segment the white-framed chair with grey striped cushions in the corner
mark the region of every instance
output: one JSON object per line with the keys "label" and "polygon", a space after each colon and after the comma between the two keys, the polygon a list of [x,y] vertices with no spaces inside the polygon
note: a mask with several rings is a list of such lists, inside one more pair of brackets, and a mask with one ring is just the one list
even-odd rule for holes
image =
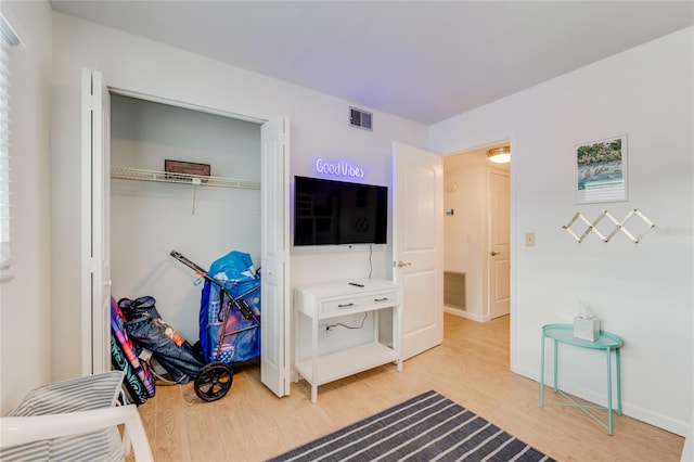
{"label": "white-framed chair with grey striped cushions in the corner", "polygon": [[[116,406],[123,371],[55,382],[31,390],[0,419],[2,461],[151,461],[134,405]],[[124,425],[123,432],[118,425]]]}

